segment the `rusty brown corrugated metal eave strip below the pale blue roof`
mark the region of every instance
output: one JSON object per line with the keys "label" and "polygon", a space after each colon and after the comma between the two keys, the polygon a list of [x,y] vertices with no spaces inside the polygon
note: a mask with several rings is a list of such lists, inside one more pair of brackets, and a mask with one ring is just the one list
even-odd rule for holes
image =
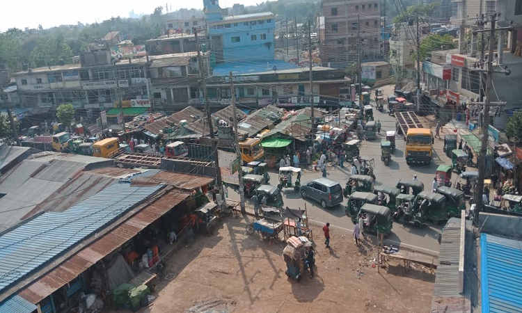
{"label": "rusty brown corrugated metal eave strip below the pale blue roof", "polygon": [[111,230],[111,232],[101,239],[91,243],[63,264],[36,282],[33,282],[29,287],[20,292],[20,296],[31,303],[39,303],[63,285],[74,280],[74,278],[100,261],[100,259],[120,248],[123,243],[136,236],[138,232],[166,214],[188,196],[189,193],[184,193],[176,189],[162,195],[161,198],[149,204],[135,216],[125,221],[125,223]]}

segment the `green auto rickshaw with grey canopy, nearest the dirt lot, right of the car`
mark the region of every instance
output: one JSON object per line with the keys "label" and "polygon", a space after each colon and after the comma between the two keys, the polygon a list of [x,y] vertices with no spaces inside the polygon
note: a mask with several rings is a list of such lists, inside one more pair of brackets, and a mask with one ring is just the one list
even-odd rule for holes
{"label": "green auto rickshaw with grey canopy, nearest the dirt lot, right of the car", "polygon": [[[365,233],[371,232],[373,234],[383,234],[388,236],[393,227],[392,214],[388,207],[382,205],[365,203],[359,213],[370,218],[370,223],[364,223],[363,231]],[[351,216],[351,221],[357,223],[358,216]]]}

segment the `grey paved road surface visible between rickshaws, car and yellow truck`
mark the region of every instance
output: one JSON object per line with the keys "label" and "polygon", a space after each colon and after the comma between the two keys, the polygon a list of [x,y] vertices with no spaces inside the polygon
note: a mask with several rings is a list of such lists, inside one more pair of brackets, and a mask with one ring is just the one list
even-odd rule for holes
{"label": "grey paved road surface visible between rickshaws, car and yellow truck", "polygon": [[[380,120],[382,129],[381,136],[386,137],[386,130],[395,130],[395,118],[389,116],[386,109],[383,112],[374,111],[375,120]],[[441,134],[442,136],[443,134]],[[425,184],[425,190],[429,190],[432,186],[435,170],[438,164],[449,163],[448,158],[443,154],[443,143],[442,140],[436,139],[434,145],[434,161],[428,166],[408,166],[404,159],[404,137],[397,136],[396,145],[397,149],[392,156],[392,161],[385,166],[380,159],[380,142],[381,138],[377,138],[374,141],[365,141],[361,148],[361,157],[363,159],[373,158],[375,159],[376,168],[374,170],[377,176],[376,185],[395,185],[399,179],[413,179],[413,175],[416,174],[418,179]],[[277,182],[277,174],[270,173],[271,184],[274,185]],[[339,182],[344,188],[349,176],[349,168],[330,168],[328,170],[328,178]],[[303,172],[301,182],[305,183],[317,177],[321,177],[320,172],[313,172],[306,170]],[[453,181],[454,179],[452,179]],[[229,192],[229,197],[232,200],[239,200],[239,195],[233,191]],[[293,189],[287,188],[283,190],[283,199],[285,206],[291,208],[308,209],[308,216],[310,220],[315,220],[320,223],[329,222],[335,227],[341,227],[349,230],[353,230],[353,224],[351,220],[345,215],[345,204],[346,200],[336,207],[329,209],[322,209],[319,203],[313,200],[303,200],[299,193],[295,193]],[[388,241],[395,244],[402,244],[406,248],[417,247],[418,250],[427,250],[427,252],[438,252],[438,241],[437,236],[443,225],[424,225],[420,228],[416,228],[413,225],[402,225],[401,223],[393,224],[393,234],[388,236]],[[335,243],[332,243],[335,245]]]}

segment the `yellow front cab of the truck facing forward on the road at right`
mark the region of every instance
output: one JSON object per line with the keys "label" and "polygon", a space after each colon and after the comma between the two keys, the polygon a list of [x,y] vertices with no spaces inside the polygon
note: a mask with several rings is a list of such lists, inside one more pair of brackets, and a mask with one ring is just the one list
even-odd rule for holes
{"label": "yellow front cab of the truck facing forward on the road at right", "polygon": [[434,137],[429,128],[410,128],[406,133],[406,164],[431,163]]}

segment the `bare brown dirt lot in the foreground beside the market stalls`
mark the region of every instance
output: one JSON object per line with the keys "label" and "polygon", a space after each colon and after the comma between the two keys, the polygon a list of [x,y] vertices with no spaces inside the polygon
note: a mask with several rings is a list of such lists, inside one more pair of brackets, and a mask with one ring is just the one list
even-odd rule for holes
{"label": "bare brown dirt lot in the foreground beside the market stalls", "polygon": [[250,219],[224,218],[213,236],[174,252],[172,279],[159,281],[157,298],[140,312],[429,312],[435,275],[418,264],[405,273],[399,262],[377,273],[375,237],[357,247],[351,232],[331,228],[328,249],[322,225],[312,225],[318,273],[296,282],[285,275],[285,243],[248,236]]}

